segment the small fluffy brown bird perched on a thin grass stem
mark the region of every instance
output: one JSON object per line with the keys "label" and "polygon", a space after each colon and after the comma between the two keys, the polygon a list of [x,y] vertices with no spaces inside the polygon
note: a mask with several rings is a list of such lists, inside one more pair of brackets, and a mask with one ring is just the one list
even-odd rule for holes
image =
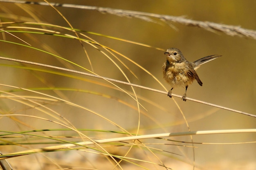
{"label": "small fluffy brown bird perched on a thin grass stem", "polygon": [[[185,86],[187,90],[189,84],[192,84],[194,79],[196,79],[198,84],[202,86],[203,83],[199,79],[195,70],[198,69],[202,64],[222,56],[209,55],[191,63],[186,60],[179,49],[171,48],[168,49],[164,54],[167,57],[166,62],[164,62],[162,66],[162,71],[164,74],[164,79],[168,84],[171,85],[171,90],[167,94],[169,97],[172,97],[173,88]],[[183,101],[186,101],[186,91],[182,99]]]}

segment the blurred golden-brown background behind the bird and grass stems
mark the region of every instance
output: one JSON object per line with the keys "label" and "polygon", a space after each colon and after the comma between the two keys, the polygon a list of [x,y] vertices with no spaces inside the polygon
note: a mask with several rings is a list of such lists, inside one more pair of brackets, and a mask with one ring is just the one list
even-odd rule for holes
{"label": "blurred golden-brown background behind the bird and grass stems", "polygon": [[[182,16],[191,20],[241,26],[244,29],[256,29],[256,22],[254,22],[256,17],[256,1],[55,0],[49,2],[81,4],[96,7],[109,7],[113,9]],[[194,84],[190,85],[188,88],[187,97],[240,110],[246,113],[255,114],[256,40],[252,38],[230,36],[221,32],[213,33],[198,27],[185,26],[173,22],[166,23],[155,18],[153,18],[155,22],[147,22],[138,18],[127,18],[108,13],[100,13],[94,10],[65,7],[56,8],[63,14],[63,16],[65,16],[65,18],[67,18],[75,29],[92,31],[94,33],[148,44],[153,47],[164,49],[163,51],[156,48],[149,48],[146,46],[140,46],[138,44],[132,44],[125,41],[114,40],[108,37],[84,32],[85,35],[97,41],[99,44],[107,46],[108,48],[125,55],[130,60],[133,60],[145,68],[157,79],[159,79],[167,90],[169,90],[170,87],[166,82],[164,82],[161,70],[162,64],[166,60],[166,56],[164,55],[166,49],[170,47],[180,49],[184,57],[191,62],[207,55],[222,55],[222,57],[202,65],[197,70],[197,73],[203,82],[203,86],[201,87],[194,82]],[[59,15],[52,7],[6,2],[0,2],[0,22],[43,22],[69,27],[63,17],[61,17],[61,15]],[[7,25],[2,25],[2,27],[4,26]],[[8,26],[21,25],[10,24]],[[35,27],[41,28],[40,26]],[[173,29],[173,27],[175,27],[175,29]],[[50,29],[60,31],[61,33],[75,35],[71,31],[66,31],[64,29]],[[4,28],[4,30],[11,29]],[[90,66],[88,57],[86,56],[85,51],[78,40],[43,34],[13,34],[22,40],[25,40],[33,47],[59,55],[67,60],[80,64],[90,71],[93,69],[93,72],[98,75],[121,81],[128,81],[121,73],[119,68],[110,59],[108,59],[106,55],[101,53],[98,49],[95,49],[90,44],[83,43],[83,46],[90,57],[92,67]],[[2,33],[2,35],[0,35],[0,39],[22,44],[22,42],[17,38],[14,38],[6,33]],[[97,47],[100,50],[105,51],[106,54],[110,55],[110,53],[106,52],[106,50],[104,50],[101,46]],[[78,71],[85,71],[82,68],[72,66],[72,64],[60,62],[60,60],[56,59],[56,57],[53,57],[52,55],[7,42],[0,42],[0,55],[3,57],[28,60],[64,68],[72,68]],[[111,56],[112,60],[117,62],[131,83],[165,91],[165,89],[155,79],[153,79],[151,75],[121,55],[117,54],[117,57],[119,60],[124,62],[130,71],[135,73],[137,76],[136,78],[134,75],[132,75],[132,73],[130,73],[130,71],[124,65],[122,65],[115,57]],[[1,60],[0,64],[19,65],[17,63],[4,60]],[[39,66],[26,66],[30,68],[41,68]],[[53,69],[49,70],[54,71]],[[188,131],[182,114],[180,113],[180,110],[173,99],[177,102],[178,106],[186,117],[186,120],[189,122],[189,128],[191,131],[256,128],[256,121],[253,117],[213,108],[211,106],[198,104],[191,101],[183,102],[182,99],[176,97],[170,99],[167,97],[167,95],[140,88],[134,88],[136,94],[138,95],[140,104],[146,108],[145,110],[144,108],[140,107],[139,120],[137,103],[135,100],[122,91],[116,90],[115,86],[112,84],[92,77],[75,74],[71,75],[79,76],[81,79],[2,65],[0,67],[0,84],[20,88],[56,87],[76,89],[76,91],[60,90],[58,92],[49,90],[43,91],[43,89],[40,89],[39,92],[60,97],[78,104],[79,106],[88,108],[89,110],[110,119],[130,133],[137,132],[139,124],[138,122],[140,122],[138,131],[139,135]],[[132,88],[130,86],[117,83],[115,84],[123,88],[125,91],[132,93]],[[1,91],[11,90],[13,90],[13,88],[1,86]],[[184,88],[174,89],[173,94],[183,95],[184,90]],[[36,95],[34,93],[24,91],[14,92],[14,94],[22,96]],[[1,98],[0,109],[2,114],[25,114],[52,119],[50,115],[46,115],[29,105],[8,99],[4,96]],[[120,127],[111,124],[109,121],[106,121],[106,119],[102,119],[101,117],[92,114],[92,112],[88,110],[77,108],[60,101],[52,103],[50,103],[50,101],[48,102],[49,104],[45,104],[49,108],[68,119],[76,128],[121,131]],[[40,119],[29,117],[15,117],[15,119],[11,117],[1,117],[0,119],[0,130],[4,131],[20,132],[31,129],[47,128],[54,129],[63,127],[53,124],[52,122],[45,122]],[[64,136],[65,132],[63,132],[63,134],[56,132],[55,135]],[[97,138],[116,137],[115,134],[95,134],[93,132],[88,134],[86,133],[86,135]],[[120,135],[117,135],[117,137],[119,136]],[[171,139],[191,142],[190,137],[175,137]],[[236,143],[250,142],[255,140],[256,135],[252,133],[193,136],[193,141],[199,143]],[[191,144],[187,145],[191,146]],[[39,146],[41,147],[43,144]],[[31,147],[40,148],[39,146]],[[195,148],[196,169],[253,170],[255,167],[255,143],[235,145],[195,144],[195,146],[198,147]],[[173,159],[173,155],[169,155],[167,157],[162,155],[163,158],[161,160],[166,166],[173,169],[193,168],[192,148],[176,146],[161,147],[169,152],[183,155],[178,157],[178,160]],[[110,149],[110,152],[123,154],[126,149],[127,148],[122,149],[113,147],[112,150]],[[7,154],[20,150],[26,150],[26,148],[21,146],[0,146],[0,150],[4,154]],[[63,154],[65,154],[65,156],[63,156]],[[52,153],[52,155],[49,153],[47,156],[55,158],[59,157],[64,161],[71,159],[68,154],[72,155],[73,151]],[[132,150],[130,154],[134,156],[139,155],[140,152],[138,150]],[[12,158],[9,159],[9,161],[13,167],[17,167],[18,162],[22,161],[23,163],[27,162],[30,165],[34,165],[34,169],[40,169],[38,168],[38,164],[41,164],[41,166],[39,166],[41,169],[47,169],[46,165],[49,165],[50,163],[47,162],[44,164],[44,166],[42,166],[42,163],[37,162],[38,157],[36,159],[35,155],[30,155]],[[71,161],[71,159],[70,161],[76,166],[83,165],[83,163],[85,163],[83,162],[83,159],[79,156],[77,157],[77,159],[73,161]],[[90,157],[92,157],[92,155],[90,155]],[[97,157],[97,155],[94,155],[93,159],[95,159],[97,163],[99,163],[98,161],[106,161],[99,156]],[[33,160],[32,164],[31,160]],[[103,167],[106,166],[106,164],[102,165]],[[130,166],[135,168],[134,165],[127,163],[124,165],[124,169],[129,169]],[[26,168],[27,166],[24,164],[24,169]],[[100,169],[102,166],[97,165],[97,168]],[[153,169],[151,166],[148,166],[148,168]]]}

